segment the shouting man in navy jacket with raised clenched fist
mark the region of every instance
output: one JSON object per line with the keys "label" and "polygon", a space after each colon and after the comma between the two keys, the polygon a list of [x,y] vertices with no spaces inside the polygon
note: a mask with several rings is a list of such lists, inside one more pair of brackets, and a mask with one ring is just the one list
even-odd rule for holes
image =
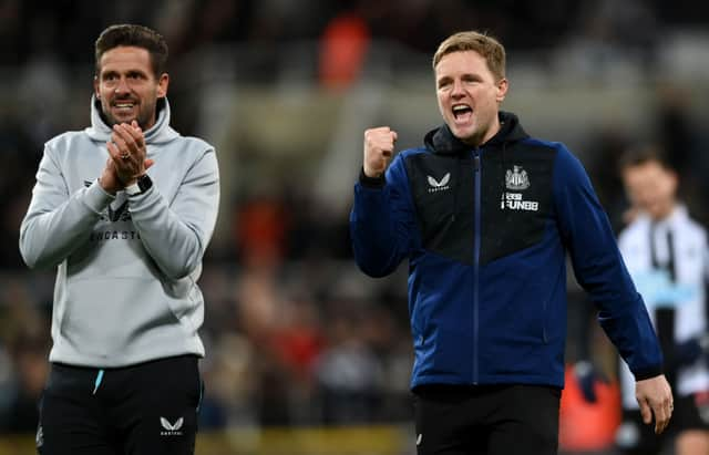
{"label": "shouting man in navy jacket with raised clenched fist", "polygon": [[493,38],[451,35],[433,70],[445,124],[391,166],[397,133],[368,130],[350,216],[366,273],[409,259],[419,455],[556,453],[567,252],[645,423],[662,432],[672,395],[660,348],[583,166],[500,111],[505,51]]}

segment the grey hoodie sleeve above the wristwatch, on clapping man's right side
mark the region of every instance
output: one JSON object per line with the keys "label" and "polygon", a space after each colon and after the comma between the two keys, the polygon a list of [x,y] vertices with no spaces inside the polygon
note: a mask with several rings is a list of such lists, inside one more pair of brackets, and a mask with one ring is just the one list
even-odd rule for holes
{"label": "grey hoodie sleeve above the wristwatch, on clapping man's right side", "polygon": [[214,148],[206,149],[168,201],[155,185],[129,197],[133,224],[143,246],[171,279],[201,266],[214,232],[219,206],[219,170]]}

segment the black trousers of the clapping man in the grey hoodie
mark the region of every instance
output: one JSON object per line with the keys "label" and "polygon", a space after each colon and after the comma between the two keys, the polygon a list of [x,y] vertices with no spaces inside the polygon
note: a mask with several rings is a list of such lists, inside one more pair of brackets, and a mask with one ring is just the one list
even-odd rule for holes
{"label": "black trousers of the clapping man in the grey hoodie", "polygon": [[53,363],[40,401],[40,455],[193,455],[202,399],[194,355],[120,369]]}

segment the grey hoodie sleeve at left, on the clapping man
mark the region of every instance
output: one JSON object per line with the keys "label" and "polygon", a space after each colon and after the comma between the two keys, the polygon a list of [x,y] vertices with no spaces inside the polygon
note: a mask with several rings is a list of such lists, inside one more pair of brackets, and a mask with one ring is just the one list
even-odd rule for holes
{"label": "grey hoodie sleeve at left, on the clapping man", "polygon": [[30,268],[61,263],[86,241],[88,232],[112,200],[113,196],[97,180],[70,194],[53,149],[45,145],[32,199],[20,225],[20,254],[24,262]]}

